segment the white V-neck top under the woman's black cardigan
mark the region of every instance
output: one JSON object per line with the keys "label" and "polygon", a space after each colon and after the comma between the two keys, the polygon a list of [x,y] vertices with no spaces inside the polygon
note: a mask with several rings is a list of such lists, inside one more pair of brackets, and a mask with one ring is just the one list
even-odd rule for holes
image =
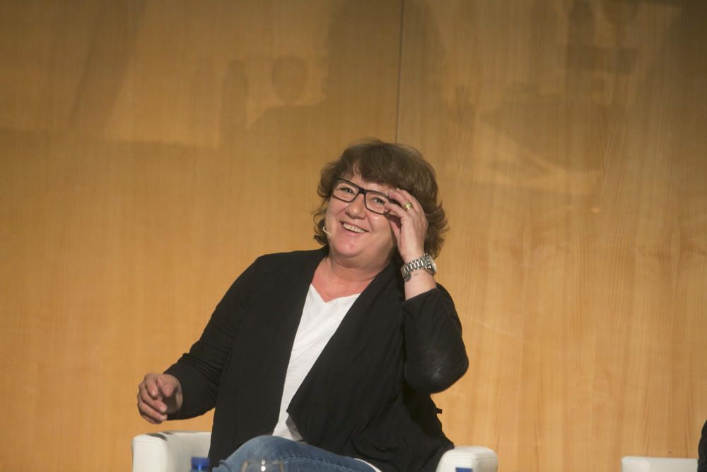
{"label": "white V-neck top under the woman's black cardigan", "polygon": [[287,408],[358,295],[349,295],[349,297],[340,297],[325,302],[314,285],[310,284],[300,325],[297,327],[295,343],[292,346],[290,363],[287,365],[285,387],[280,402],[280,415],[272,433],[274,436],[295,441],[302,440],[296,425],[287,414]]}

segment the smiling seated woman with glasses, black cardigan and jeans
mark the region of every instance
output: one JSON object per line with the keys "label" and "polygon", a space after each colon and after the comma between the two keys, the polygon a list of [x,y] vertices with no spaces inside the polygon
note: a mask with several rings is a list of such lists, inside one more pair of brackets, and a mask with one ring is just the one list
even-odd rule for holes
{"label": "smiling seated woman with glasses, black cardigan and jeans", "polygon": [[[316,251],[264,255],[218,304],[201,338],[147,374],[146,420],[216,408],[218,471],[434,471],[452,448],[430,393],[467,369],[461,326],[433,257],[446,220],[433,168],[369,140],[322,169]],[[235,451],[235,452],[234,452]]]}

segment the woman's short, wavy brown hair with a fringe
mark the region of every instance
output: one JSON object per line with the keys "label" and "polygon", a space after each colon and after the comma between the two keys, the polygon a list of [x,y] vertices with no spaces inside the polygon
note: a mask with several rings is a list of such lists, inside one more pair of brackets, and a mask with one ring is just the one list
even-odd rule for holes
{"label": "woman's short, wavy brown hair with a fringe", "polygon": [[318,243],[328,245],[323,230],[324,217],[329,198],[332,197],[334,181],[354,175],[359,175],[367,182],[390,185],[410,192],[420,202],[427,217],[425,252],[433,258],[439,255],[447,231],[447,217],[442,204],[437,201],[435,170],[414,147],[382,142],[380,139],[366,139],[352,144],[344,149],[339,159],[322,168],[317,187],[322,204],[314,213],[314,238]]}

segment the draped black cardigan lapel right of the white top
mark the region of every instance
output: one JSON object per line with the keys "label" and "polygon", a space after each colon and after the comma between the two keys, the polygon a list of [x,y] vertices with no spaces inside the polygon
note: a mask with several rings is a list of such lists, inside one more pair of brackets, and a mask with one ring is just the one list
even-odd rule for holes
{"label": "draped black cardigan lapel right of the white top", "polygon": [[310,444],[338,450],[361,410],[397,391],[404,295],[396,275],[390,263],[366,287],[293,397],[288,413]]}

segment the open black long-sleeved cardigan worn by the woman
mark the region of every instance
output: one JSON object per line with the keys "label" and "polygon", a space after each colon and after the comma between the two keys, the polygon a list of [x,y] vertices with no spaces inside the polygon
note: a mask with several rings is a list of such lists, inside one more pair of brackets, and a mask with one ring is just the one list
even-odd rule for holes
{"label": "open black long-sleeved cardigan worn by the woman", "polygon": [[[264,255],[233,283],[201,338],[167,369],[193,418],[216,407],[209,457],[271,434],[294,337],[326,249]],[[382,471],[434,471],[452,448],[430,393],[466,372],[452,299],[438,285],[405,301],[393,263],[356,299],[293,397],[303,439]]]}

